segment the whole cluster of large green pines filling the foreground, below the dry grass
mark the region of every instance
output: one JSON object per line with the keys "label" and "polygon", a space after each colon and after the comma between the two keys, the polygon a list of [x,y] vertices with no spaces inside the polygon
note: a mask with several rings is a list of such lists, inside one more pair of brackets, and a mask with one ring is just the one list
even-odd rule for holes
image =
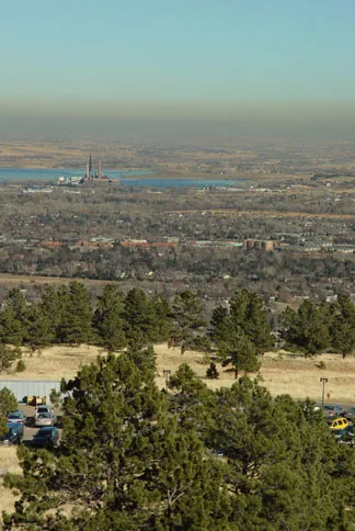
{"label": "whole cluster of large green pines filling the foreground, below the dry grass", "polygon": [[129,348],[62,382],[61,445],[19,449],[4,529],[352,529],[354,449],[311,403],[247,377],[214,392],[186,364],[159,391],[154,370]]}

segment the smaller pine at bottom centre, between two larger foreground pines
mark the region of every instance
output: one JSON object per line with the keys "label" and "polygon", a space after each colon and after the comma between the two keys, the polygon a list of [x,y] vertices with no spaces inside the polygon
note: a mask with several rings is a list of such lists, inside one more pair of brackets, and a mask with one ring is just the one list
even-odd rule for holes
{"label": "smaller pine at bottom centre, between two larger foreground pines", "polygon": [[151,488],[160,495],[162,511],[154,511],[148,529],[232,530],[221,471],[207,459],[195,430],[180,431],[172,419],[159,436]]}

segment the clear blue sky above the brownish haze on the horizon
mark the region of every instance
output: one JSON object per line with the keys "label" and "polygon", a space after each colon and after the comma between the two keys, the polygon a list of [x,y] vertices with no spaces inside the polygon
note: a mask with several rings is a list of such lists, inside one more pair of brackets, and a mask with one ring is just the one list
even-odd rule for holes
{"label": "clear blue sky above the brownish haze on the horizon", "polygon": [[[355,100],[354,0],[0,1],[0,110]],[[110,110],[110,111],[108,111]]]}

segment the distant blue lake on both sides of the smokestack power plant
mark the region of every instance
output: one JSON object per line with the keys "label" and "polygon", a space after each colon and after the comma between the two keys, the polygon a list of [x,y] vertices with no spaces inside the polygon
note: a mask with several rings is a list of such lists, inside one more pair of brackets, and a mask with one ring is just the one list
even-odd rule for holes
{"label": "distant blue lake on both sides of the smokestack power plant", "polygon": [[[241,180],[227,179],[164,179],[150,176],[151,171],[105,171],[105,174],[113,180],[119,180],[125,187],[148,187],[148,188],[207,188],[207,187],[236,187]],[[0,168],[0,179],[5,181],[58,181],[59,177],[82,176],[82,170],[62,169],[33,169],[33,168]]]}

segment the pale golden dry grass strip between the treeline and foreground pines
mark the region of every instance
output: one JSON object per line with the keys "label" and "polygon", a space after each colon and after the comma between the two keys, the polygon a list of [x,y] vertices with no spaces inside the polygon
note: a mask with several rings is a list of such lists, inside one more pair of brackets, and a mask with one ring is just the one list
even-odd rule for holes
{"label": "pale golden dry grass strip between the treeline and foreground pines", "polygon": [[[24,350],[26,370],[23,373],[2,375],[2,380],[53,380],[72,377],[80,365],[95,361],[98,355],[105,354],[103,349],[98,347],[50,347],[41,353],[33,355]],[[167,344],[157,344],[157,383],[160,387],[165,384],[164,370],[173,374],[181,363],[188,363],[192,369],[204,379],[213,388],[229,386],[233,383],[233,374],[227,372],[217,364],[220,373],[219,380],[209,381],[205,379],[206,357],[201,352],[186,351],[180,353],[180,349],[168,349]],[[318,365],[325,364],[324,369]],[[320,377],[328,377],[325,394],[329,394],[331,402],[344,402],[355,404],[355,358],[348,357],[345,360],[339,354],[322,354],[321,357],[305,359],[301,355],[280,352],[267,352],[262,358],[261,368],[262,384],[270,389],[273,396],[288,393],[294,398],[312,399],[321,398]],[[1,382],[1,380],[0,380]],[[1,385],[1,383],[0,383]]]}

